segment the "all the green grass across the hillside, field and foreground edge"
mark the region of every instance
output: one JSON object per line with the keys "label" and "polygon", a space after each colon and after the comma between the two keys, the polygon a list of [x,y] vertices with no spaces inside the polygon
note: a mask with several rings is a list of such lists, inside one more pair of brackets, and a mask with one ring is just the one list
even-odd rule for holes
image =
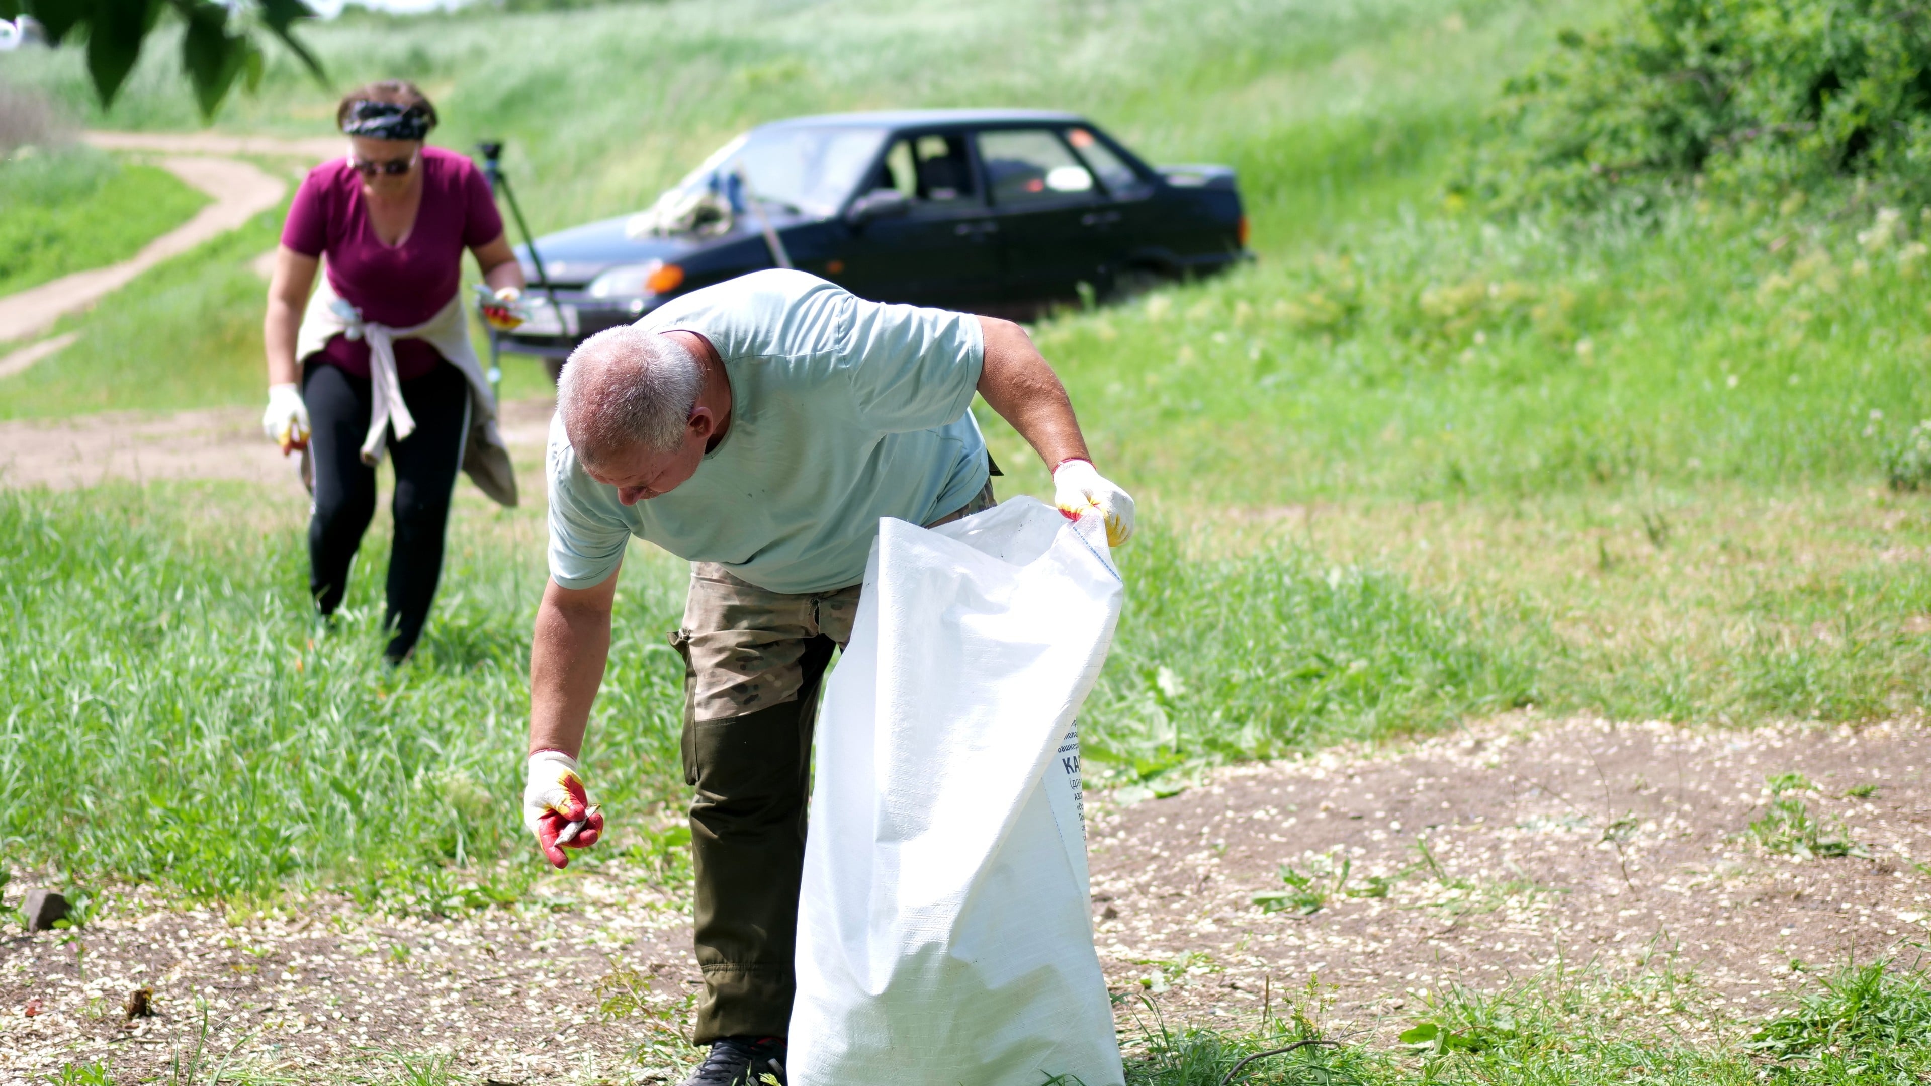
{"label": "all the green grass across the hillside, field and foreground edge", "polygon": [[[1931,415],[1921,211],[1873,234],[1856,197],[1684,203],[1647,230],[1562,232],[1442,197],[1500,79],[1601,17],[1531,0],[734,0],[363,15],[307,39],[338,83],[423,81],[444,145],[508,137],[539,230],[637,209],[743,126],[813,110],[1076,108],[1153,160],[1236,164],[1253,267],[1035,329],[1143,510],[1083,721],[1101,783],[1178,786],[1522,705],[1917,711],[1931,516],[1883,466]],[[73,54],[0,77],[93,108]],[[276,58],[218,124],[315,135],[330,112]],[[189,128],[193,104],[149,60],[91,122]],[[265,218],[70,321],[81,346],[0,381],[0,417],[255,404],[263,284],[245,261],[272,240]],[[535,363],[512,365],[512,390],[539,388]],[[1043,493],[983,419],[1002,495]],[[463,491],[436,614],[394,672],[375,632],[386,518],[321,634],[297,502],[0,493],[10,862],[238,900],[340,887],[396,910],[521,893],[543,520]],[[618,827],[682,796],[662,643],[682,576],[641,547],[626,566],[589,748]],[[658,844],[620,829],[608,852]],[[1251,1080],[1892,1082],[1931,1059],[1908,970],[1848,976],[1744,1053],[1637,1028],[1630,991],[1454,997],[1433,1013],[1462,1040],[1419,1063],[1348,1047]],[[1271,1036],[1161,1034],[1135,1082],[1218,1082]],[[1777,1045],[1794,1059],[1759,1063]]]}

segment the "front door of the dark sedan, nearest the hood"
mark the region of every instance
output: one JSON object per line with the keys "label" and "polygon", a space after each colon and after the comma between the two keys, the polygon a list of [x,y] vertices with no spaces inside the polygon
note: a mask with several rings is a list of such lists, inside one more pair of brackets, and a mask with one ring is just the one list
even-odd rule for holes
{"label": "front door of the dark sedan, nearest the hood", "polygon": [[[867,197],[888,211],[859,216]],[[844,253],[828,274],[859,298],[946,309],[998,300],[996,224],[964,133],[900,133],[846,213]]]}

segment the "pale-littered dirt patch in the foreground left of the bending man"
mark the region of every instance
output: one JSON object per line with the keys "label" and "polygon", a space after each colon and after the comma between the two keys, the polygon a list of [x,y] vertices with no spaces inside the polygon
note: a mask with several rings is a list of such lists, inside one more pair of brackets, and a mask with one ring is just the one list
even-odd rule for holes
{"label": "pale-littered dirt patch in the foreground left of the bending man", "polygon": [[[126,1082],[160,1074],[193,1049],[197,1001],[214,1061],[303,1082],[390,1080],[398,1053],[454,1053],[467,1082],[595,1078],[620,1072],[643,1034],[635,1018],[599,1020],[614,960],[651,978],[664,1007],[697,987],[684,904],[622,864],[462,920],[317,900],[230,922],[137,893],[79,935],[0,943],[0,1084],[39,1084],[70,1061],[108,1061]],[[154,1015],[127,1018],[143,987]]]}

